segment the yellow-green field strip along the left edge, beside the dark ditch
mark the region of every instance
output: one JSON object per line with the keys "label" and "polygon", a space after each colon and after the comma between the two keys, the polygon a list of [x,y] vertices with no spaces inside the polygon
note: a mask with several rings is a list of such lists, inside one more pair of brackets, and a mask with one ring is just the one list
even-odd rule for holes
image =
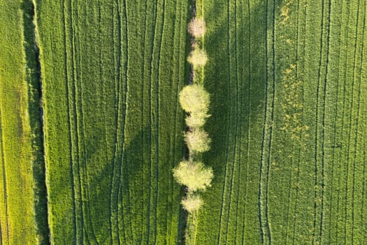
{"label": "yellow-green field strip along the left edge, beside the dark ditch", "polygon": [[[23,1],[0,1],[1,205],[3,244],[37,244]],[[28,3],[28,2],[27,2]],[[24,3],[26,4],[26,3]],[[26,31],[29,31],[26,29]],[[27,36],[28,37],[28,36]],[[19,232],[22,231],[22,232]]]}

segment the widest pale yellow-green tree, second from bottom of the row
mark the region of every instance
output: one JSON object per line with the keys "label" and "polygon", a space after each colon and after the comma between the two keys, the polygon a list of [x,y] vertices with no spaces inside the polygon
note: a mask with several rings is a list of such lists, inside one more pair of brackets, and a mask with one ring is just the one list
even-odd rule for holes
{"label": "widest pale yellow-green tree, second from bottom of the row", "polygon": [[203,162],[182,161],[173,169],[173,176],[178,183],[189,188],[189,193],[192,193],[210,187],[213,169],[204,167]]}

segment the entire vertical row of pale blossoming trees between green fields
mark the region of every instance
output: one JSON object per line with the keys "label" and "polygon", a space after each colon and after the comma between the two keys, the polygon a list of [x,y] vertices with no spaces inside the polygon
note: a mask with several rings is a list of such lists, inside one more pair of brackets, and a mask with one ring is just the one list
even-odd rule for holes
{"label": "entire vertical row of pale blossoming trees between green fields", "polygon": [[203,87],[203,68],[208,62],[206,51],[203,50],[203,37],[206,33],[206,23],[203,18],[193,18],[188,25],[189,34],[195,38],[192,51],[187,61],[192,64],[193,84],[183,87],[179,102],[187,113],[185,123],[189,128],[185,132],[185,143],[189,149],[187,160],[182,160],[173,169],[173,176],[178,183],[187,187],[187,195],[181,204],[189,213],[197,211],[203,204],[199,195],[210,187],[213,179],[213,169],[201,162],[201,153],[210,149],[210,138],[203,130],[206,119],[210,117],[210,94]]}

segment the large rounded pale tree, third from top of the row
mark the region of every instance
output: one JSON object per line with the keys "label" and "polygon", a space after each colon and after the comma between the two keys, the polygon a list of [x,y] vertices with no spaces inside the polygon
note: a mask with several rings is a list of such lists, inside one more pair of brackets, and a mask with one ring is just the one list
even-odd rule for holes
{"label": "large rounded pale tree, third from top of the row", "polygon": [[210,97],[209,93],[201,85],[187,85],[179,95],[179,102],[187,113],[208,112]]}

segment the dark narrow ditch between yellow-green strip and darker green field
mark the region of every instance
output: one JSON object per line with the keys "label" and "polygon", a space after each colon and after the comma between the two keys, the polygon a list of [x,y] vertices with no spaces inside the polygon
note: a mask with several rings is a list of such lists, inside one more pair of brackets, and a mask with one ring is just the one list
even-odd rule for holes
{"label": "dark narrow ditch between yellow-green strip and darker green field", "polygon": [[38,27],[36,24],[36,3],[33,0],[22,2],[24,52],[26,58],[26,80],[29,94],[29,120],[32,133],[34,159],[34,215],[40,244],[50,244],[48,224],[48,200],[45,184],[45,150],[43,134],[43,92]]}

